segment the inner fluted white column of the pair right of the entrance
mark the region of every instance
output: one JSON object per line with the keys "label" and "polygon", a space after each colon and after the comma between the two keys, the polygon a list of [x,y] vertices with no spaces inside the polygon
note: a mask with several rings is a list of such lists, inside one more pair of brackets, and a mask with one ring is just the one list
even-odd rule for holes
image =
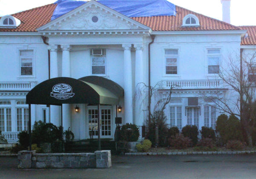
{"label": "inner fluted white column of the pair right of the entrance", "polygon": [[133,123],[131,44],[123,44],[122,47],[124,48],[124,121],[125,123]]}

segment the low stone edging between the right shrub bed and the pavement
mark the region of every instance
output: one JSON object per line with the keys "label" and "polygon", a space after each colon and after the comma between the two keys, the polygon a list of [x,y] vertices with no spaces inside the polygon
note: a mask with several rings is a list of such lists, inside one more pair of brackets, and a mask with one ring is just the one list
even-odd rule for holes
{"label": "low stone edging between the right shrub bed and the pavement", "polygon": [[220,155],[220,154],[242,154],[256,153],[256,151],[229,151],[229,152],[147,152],[147,153],[125,153],[125,155]]}

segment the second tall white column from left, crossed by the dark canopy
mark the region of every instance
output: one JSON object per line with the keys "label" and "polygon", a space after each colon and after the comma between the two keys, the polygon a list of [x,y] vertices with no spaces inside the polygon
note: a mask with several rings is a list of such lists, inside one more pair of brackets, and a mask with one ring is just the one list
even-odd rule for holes
{"label": "second tall white column from left, crossed by the dark canopy", "polygon": [[[70,77],[70,45],[61,45],[62,49],[62,77]],[[71,127],[71,111],[69,104],[62,105],[62,125],[64,130]]]}

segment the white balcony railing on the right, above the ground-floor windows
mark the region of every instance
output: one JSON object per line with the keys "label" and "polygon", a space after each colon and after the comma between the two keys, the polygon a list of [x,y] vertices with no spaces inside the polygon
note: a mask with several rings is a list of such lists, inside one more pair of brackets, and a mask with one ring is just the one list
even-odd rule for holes
{"label": "white balcony railing on the right, above the ground-floor windows", "polygon": [[172,85],[176,85],[181,89],[193,89],[193,88],[222,88],[222,80],[163,80],[164,88],[170,88]]}

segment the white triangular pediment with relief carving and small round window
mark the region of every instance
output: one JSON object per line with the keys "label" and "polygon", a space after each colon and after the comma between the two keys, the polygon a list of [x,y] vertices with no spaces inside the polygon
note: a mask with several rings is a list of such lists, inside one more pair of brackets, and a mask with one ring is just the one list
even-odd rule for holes
{"label": "white triangular pediment with relief carving and small round window", "polygon": [[[94,18],[94,19],[93,19]],[[67,18],[61,23],[55,23],[48,30],[126,30],[142,29],[122,17],[107,11],[90,8]]]}

